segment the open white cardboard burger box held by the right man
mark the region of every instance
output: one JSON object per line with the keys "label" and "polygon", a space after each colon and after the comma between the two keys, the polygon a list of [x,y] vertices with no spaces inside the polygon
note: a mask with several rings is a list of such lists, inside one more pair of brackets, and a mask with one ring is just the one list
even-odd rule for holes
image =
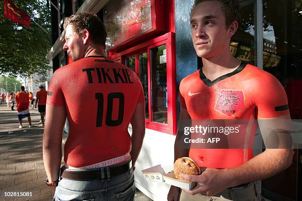
{"label": "open white cardboard burger box held by the right man", "polygon": [[[172,186],[177,186],[182,189],[191,190],[196,186],[195,182],[183,181],[175,178],[173,173],[173,166],[165,166],[161,167],[161,165],[157,165],[154,167],[150,167],[142,170],[144,177],[147,181],[153,182],[166,182]],[[166,173],[167,172],[167,173]]]}

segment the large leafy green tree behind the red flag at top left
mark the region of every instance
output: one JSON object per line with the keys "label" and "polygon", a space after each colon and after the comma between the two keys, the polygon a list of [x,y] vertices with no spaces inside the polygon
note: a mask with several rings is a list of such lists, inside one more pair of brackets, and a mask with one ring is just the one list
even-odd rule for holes
{"label": "large leafy green tree behind the red flag at top left", "polygon": [[[46,76],[51,68],[45,56],[51,47],[51,17],[45,1],[13,0],[14,4],[29,13],[31,27],[12,23],[3,18],[3,1],[0,1],[0,75]],[[44,30],[38,27],[36,21]]]}

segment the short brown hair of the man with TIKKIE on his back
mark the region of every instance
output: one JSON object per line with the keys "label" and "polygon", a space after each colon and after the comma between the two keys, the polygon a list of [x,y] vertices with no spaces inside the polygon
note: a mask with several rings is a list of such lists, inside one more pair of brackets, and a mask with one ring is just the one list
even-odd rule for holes
{"label": "short brown hair of the man with TIKKIE on his back", "polygon": [[107,32],[104,23],[96,14],[89,12],[78,12],[75,15],[66,17],[64,29],[71,25],[76,34],[83,33],[86,29],[90,33],[90,40],[95,44],[105,47]]}

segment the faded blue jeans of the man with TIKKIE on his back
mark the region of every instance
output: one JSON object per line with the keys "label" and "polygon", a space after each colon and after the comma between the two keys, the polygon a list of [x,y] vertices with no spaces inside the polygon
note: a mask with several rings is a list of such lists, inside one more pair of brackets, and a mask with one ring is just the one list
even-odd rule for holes
{"label": "faded blue jeans of the man with TIKKIE on his back", "polygon": [[[123,165],[118,164],[115,166]],[[114,167],[115,167],[114,166]],[[98,168],[100,171],[106,167]],[[54,201],[134,201],[133,169],[104,179],[76,181],[62,178],[56,187]]]}

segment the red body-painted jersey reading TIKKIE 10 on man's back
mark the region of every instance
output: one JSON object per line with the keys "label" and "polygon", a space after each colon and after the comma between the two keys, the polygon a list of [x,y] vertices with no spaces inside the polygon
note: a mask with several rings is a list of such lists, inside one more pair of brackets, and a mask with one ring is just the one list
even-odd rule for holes
{"label": "red body-painted jersey reading TIKKIE 10 on man's back", "polygon": [[144,101],[135,72],[110,59],[86,57],[56,70],[47,104],[66,107],[65,163],[83,167],[129,153],[128,125]]}

